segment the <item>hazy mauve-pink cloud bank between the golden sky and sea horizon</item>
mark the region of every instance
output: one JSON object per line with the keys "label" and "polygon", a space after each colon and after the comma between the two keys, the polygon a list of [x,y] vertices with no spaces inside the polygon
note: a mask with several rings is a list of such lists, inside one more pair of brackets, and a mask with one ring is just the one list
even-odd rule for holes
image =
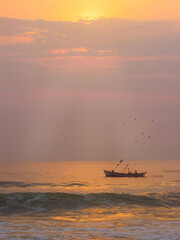
{"label": "hazy mauve-pink cloud bank between the golden sky and sea horizon", "polygon": [[180,22],[89,23],[0,18],[2,159],[180,158]]}

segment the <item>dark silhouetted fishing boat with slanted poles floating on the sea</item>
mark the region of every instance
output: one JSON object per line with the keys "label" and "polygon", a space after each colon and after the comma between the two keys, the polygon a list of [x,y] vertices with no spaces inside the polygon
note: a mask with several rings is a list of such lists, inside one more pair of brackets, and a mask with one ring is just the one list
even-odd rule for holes
{"label": "dark silhouetted fishing boat with slanted poles floating on the sea", "polygon": [[[117,166],[115,167],[115,169],[120,165],[120,163],[122,163],[123,160],[120,160],[120,162],[117,164]],[[129,164],[126,165],[126,167],[124,168],[124,172],[115,172],[113,169],[112,171],[107,171],[107,170],[104,170],[104,173],[105,173],[105,176],[106,177],[145,177],[146,175],[146,172],[137,172],[135,170],[135,172],[131,172],[129,171],[129,168],[127,168],[129,166]],[[128,172],[125,172],[125,170],[128,169]]]}

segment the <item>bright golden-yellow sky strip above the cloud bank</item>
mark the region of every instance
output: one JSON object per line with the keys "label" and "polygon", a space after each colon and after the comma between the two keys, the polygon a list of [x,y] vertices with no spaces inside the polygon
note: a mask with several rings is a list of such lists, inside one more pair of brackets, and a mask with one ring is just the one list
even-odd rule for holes
{"label": "bright golden-yellow sky strip above the cloud bank", "polygon": [[0,17],[78,21],[180,20],[179,0],[0,0]]}

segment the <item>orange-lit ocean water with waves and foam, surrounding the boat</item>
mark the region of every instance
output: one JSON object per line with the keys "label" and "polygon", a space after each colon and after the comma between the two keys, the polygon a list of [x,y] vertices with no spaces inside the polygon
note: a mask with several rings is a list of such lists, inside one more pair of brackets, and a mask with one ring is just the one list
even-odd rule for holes
{"label": "orange-lit ocean water with waves and foam, surrounding the boat", "polygon": [[127,163],[1,162],[0,239],[180,239],[180,161]]}

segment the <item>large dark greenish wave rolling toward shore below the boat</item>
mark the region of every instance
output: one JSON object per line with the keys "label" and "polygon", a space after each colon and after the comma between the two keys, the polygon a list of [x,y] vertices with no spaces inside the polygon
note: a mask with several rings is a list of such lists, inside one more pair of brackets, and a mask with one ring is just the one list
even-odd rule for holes
{"label": "large dark greenish wave rolling toward shore below the boat", "polygon": [[89,207],[113,206],[178,207],[180,193],[146,195],[115,193],[0,193],[0,213],[27,211],[69,211]]}

